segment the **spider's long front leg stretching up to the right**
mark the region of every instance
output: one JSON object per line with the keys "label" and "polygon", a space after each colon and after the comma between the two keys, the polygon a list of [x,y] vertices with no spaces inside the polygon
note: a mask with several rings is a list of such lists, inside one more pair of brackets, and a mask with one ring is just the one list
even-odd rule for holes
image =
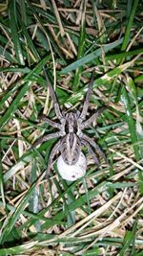
{"label": "spider's long front leg stretching up to the right", "polygon": [[92,71],[92,78],[91,78],[91,81],[89,83],[89,88],[88,88],[88,91],[87,91],[86,100],[84,102],[83,109],[82,109],[82,112],[81,112],[81,115],[80,115],[80,119],[81,120],[84,120],[86,115],[87,115],[87,111],[88,111],[88,107],[89,107],[89,101],[90,101],[90,96],[91,96],[91,93],[92,93],[93,77],[94,77],[94,69]]}

